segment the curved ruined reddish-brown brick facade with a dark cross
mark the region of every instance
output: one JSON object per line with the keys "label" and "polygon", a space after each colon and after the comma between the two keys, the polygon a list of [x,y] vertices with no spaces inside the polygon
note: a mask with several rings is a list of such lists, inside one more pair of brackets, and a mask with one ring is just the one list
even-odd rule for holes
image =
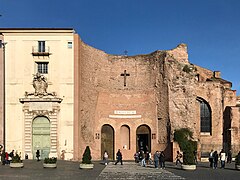
{"label": "curved ruined reddish-brown brick facade with a dark cross", "polygon": [[[103,148],[107,148],[104,126],[113,130],[111,153],[121,149],[125,159],[132,159],[140,147],[139,138],[147,134],[138,132],[142,126],[150,130],[143,136],[148,137],[148,150],[164,150],[169,158],[173,157],[174,130],[182,127],[194,132],[199,157],[212,148],[229,148],[224,145],[224,123],[232,119],[239,126],[239,108],[231,109],[233,116],[223,114],[236,105],[236,92],[230,82],[221,79],[220,72],[191,64],[185,44],[148,55],[118,56],[78,43],[80,156],[90,145],[93,159],[102,158]],[[211,114],[207,133],[200,128],[202,102]],[[129,129],[129,135],[122,127]],[[129,138],[129,144],[122,137]]]}

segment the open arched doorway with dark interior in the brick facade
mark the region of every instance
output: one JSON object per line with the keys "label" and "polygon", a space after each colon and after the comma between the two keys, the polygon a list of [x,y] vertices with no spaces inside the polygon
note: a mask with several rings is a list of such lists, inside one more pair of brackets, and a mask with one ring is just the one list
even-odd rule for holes
{"label": "open arched doorway with dark interior in the brick facade", "polygon": [[143,150],[144,152],[148,150],[149,152],[151,152],[151,130],[147,125],[138,126],[136,131],[136,137],[136,150]]}

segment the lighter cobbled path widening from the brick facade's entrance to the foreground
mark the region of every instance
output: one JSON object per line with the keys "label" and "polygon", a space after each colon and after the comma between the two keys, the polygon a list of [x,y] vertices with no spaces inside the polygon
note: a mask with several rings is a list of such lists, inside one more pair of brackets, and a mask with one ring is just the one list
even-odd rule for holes
{"label": "lighter cobbled path widening from the brick facade's entrance to the foreground", "polygon": [[156,169],[153,165],[147,165],[147,167],[141,167],[134,162],[124,162],[124,165],[114,165],[110,163],[102,171],[98,180],[144,180],[144,179],[185,179],[181,176],[177,176],[172,172],[165,169]]}

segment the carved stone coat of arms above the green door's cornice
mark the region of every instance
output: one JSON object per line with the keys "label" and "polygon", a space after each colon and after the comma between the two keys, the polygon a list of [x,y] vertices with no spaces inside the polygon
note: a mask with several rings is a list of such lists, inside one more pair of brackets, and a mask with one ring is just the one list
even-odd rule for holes
{"label": "carved stone coat of arms above the green door's cornice", "polygon": [[48,96],[48,95],[51,95],[54,97],[57,96],[56,92],[51,92],[51,93],[47,92],[47,88],[48,88],[47,78],[40,73],[33,74],[33,87],[35,89],[35,92],[29,93],[26,91],[25,97],[28,97],[31,95],[38,96],[40,98],[42,98],[43,96]]}

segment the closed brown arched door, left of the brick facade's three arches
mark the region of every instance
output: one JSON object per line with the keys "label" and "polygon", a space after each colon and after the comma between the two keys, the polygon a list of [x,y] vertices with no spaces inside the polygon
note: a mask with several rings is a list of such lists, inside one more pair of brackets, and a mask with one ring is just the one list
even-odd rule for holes
{"label": "closed brown arched door, left of the brick facade's three arches", "polygon": [[114,129],[110,125],[103,125],[101,130],[101,156],[108,152],[108,158],[114,160]]}

